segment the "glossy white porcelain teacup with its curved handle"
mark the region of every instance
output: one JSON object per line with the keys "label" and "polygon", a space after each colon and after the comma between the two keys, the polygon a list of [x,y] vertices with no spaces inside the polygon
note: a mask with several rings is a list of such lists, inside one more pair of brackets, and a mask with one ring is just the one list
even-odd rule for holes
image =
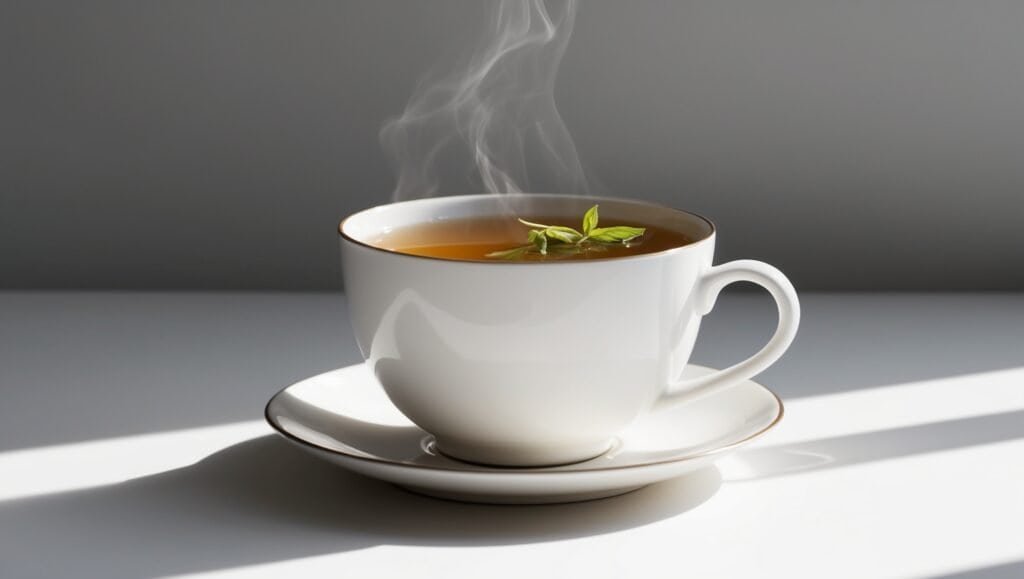
{"label": "glossy white porcelain teacup with its curved handle", "polygon": [[[383,249],[389,232],[428,221],[543,214],[640,222],[693,243],[608,259],[507,262]],[[712,265],[715,228],[659,205],[572,196],[441,197],[345,219],[342,272],[359,348],[394,405],[472,462],[543,466],[604,453],[637,416],[758,374],[785,351],[800,305],[793,285],[760,261]],[[778,327],[751,358],[680,380],[700,318],[738,281],[765,287]],[[686,424],[680,424],[685,428]]]}

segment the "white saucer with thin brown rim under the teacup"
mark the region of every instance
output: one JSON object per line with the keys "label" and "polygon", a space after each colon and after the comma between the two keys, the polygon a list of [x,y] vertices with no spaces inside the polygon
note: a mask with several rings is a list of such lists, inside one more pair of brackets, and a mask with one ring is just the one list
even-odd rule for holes
{"label": "white saucer with thin brown rim under the teacup", "polygon": [[[710,372],[691,365],[684,376]],[[433,438],[391,404],[362,364],[288,386],[267,403],[265,417],[300,448],[413,492],[534,504],[610,497],[697,470],[768,431],[782,418],[782,402],[746,380],[641,416],[597,458],[543,468],[470,464],[438,453]]]}

